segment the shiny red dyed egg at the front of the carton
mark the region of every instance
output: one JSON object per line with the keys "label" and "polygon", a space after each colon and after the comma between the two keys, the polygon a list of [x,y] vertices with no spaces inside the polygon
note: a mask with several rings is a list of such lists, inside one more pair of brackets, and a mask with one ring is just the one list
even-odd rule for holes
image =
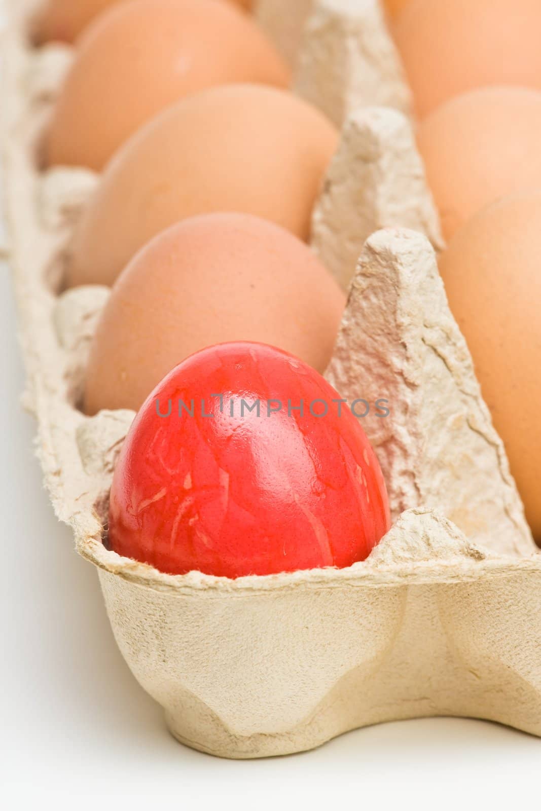
{"label": "shiny red dyed egg at the front of the carton", "polygon": [[340,399],[268,345],[191,355],[154,389],[122,447],[110,548],[165,573],[221,577],[364,560],[389,530],[389,504],[359,418]]}

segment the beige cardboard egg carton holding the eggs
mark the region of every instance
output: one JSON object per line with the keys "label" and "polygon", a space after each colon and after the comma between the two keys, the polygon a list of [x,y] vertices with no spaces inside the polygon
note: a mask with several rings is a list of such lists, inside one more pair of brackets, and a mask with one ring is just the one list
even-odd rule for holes
{"label": "beige cardboard egg carton holding the eggs", "polygon": [[2,96],[24,402],[55,512],[97,567],[122,655],[170,731],[235,758],[432,715],[541,736],[541,556],[437,271],[439,224],[378,4],[261,0],[258,14],[294,59],[298,92],[342,127],[314,212],[313,247],[350,285],[326,376],[342,397],[389,399],[390,416],[364,424],[393,528],[348,569],[238,580],[166,575],[104,546],[134,414],[76,407],[109,290],[58,294],[58,277],[97,177],[36,170],[71,50],[28,47],[31,5],[7,3]]}

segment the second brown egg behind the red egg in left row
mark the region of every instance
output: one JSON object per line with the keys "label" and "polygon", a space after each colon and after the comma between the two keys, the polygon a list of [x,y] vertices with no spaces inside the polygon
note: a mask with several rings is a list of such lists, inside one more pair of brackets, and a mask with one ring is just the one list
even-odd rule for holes
{"label": "second brown egg behind the red egg in left row", "polygon": [[149,239],[195,214],[255,214],[306,239],[337,139],[317,109],[273,88],[182,101],[108,166],[75,230],[68,286],[111,285]]}

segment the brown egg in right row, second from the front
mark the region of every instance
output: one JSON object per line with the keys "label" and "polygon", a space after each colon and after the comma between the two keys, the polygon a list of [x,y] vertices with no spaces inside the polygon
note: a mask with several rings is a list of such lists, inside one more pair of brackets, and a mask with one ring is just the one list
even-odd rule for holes
{"label": "brown egg in right row, second from the front", "polygon": [[423,120],[418,145],[449,239],[500,197],[541,188],[541,92],[482,88]]}

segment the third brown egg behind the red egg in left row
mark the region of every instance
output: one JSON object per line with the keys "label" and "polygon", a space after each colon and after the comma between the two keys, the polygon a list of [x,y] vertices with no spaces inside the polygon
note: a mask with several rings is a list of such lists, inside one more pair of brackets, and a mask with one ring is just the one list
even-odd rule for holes
{"label": "third brown egg behind the red egg in left row", "polygon": [[255,22],[222,0],[131,0],[79,43],[45,137],[47,165],[102,169],[142,124],[195,91],[286,88],[290,69]]}

